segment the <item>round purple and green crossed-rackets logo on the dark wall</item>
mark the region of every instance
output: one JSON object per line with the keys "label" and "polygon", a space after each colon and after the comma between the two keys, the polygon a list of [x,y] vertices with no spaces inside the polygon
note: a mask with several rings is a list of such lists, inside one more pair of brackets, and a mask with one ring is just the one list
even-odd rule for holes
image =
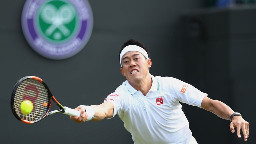
{"label": "round purple and green crossed-rackets logo on the dark wall", "polygon": [[51,59],[77,54],[88,42],[93,16],[87,0],[27,0],[22,29],[30,46]]}

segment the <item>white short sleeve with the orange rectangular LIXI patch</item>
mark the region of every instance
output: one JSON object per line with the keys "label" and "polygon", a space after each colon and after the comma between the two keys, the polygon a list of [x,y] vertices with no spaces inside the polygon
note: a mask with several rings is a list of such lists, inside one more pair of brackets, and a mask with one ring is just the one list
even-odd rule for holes
{"label": "white short sleeve with the orange rectangular LIXI patch", "polygon": [[171,78],[169,79],[176,93],[174,93],[172,100],[186,103],[189,105],[201,107],[203,98],[207,96],[206,93],[201,92],[194,86],[185,83],[181,80]]}

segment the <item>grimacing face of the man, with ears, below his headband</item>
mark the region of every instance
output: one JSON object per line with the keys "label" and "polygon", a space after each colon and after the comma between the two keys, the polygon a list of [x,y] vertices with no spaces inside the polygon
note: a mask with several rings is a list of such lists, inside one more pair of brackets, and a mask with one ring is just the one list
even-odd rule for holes
{"label": "grimacing face of the man, with ears, below his headband", "polygon": [[123,55],[121,73],[128,81],[139,81],[149,74],[151,59],[145,57],[137,51],[130,51]]}

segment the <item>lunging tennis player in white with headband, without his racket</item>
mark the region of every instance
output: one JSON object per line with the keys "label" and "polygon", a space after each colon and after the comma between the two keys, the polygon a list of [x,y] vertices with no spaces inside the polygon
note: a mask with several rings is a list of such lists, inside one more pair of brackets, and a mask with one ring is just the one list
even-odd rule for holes
{"label": "lunging tennis player in white with headband, without his racket", "polygon": [[76,108],[76,122],[100,121],[119,115],[135,144],[197,144],[182,103],[201,107],[230,120],[232,133],[244,141],[249,137],[249,123],[223,102],[212,100],[192,85],[172,77],[153,76],[148,49],[140,42],[128,40],[120,50],[121,73],[126,81],[109,94],[100,105]]}

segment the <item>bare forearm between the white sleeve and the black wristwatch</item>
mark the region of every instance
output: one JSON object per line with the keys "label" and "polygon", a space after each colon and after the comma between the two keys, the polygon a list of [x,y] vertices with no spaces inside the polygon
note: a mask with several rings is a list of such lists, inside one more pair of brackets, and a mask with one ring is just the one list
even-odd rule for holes
{"label": "bare forearm between the white sleeve and the black wristwatch", "polygon": [[230,116],[234,113],[234,111],[225,103],[212,100],[212,108],[209,110],[210,112],[216,114],[218,117],[230,120]]}

